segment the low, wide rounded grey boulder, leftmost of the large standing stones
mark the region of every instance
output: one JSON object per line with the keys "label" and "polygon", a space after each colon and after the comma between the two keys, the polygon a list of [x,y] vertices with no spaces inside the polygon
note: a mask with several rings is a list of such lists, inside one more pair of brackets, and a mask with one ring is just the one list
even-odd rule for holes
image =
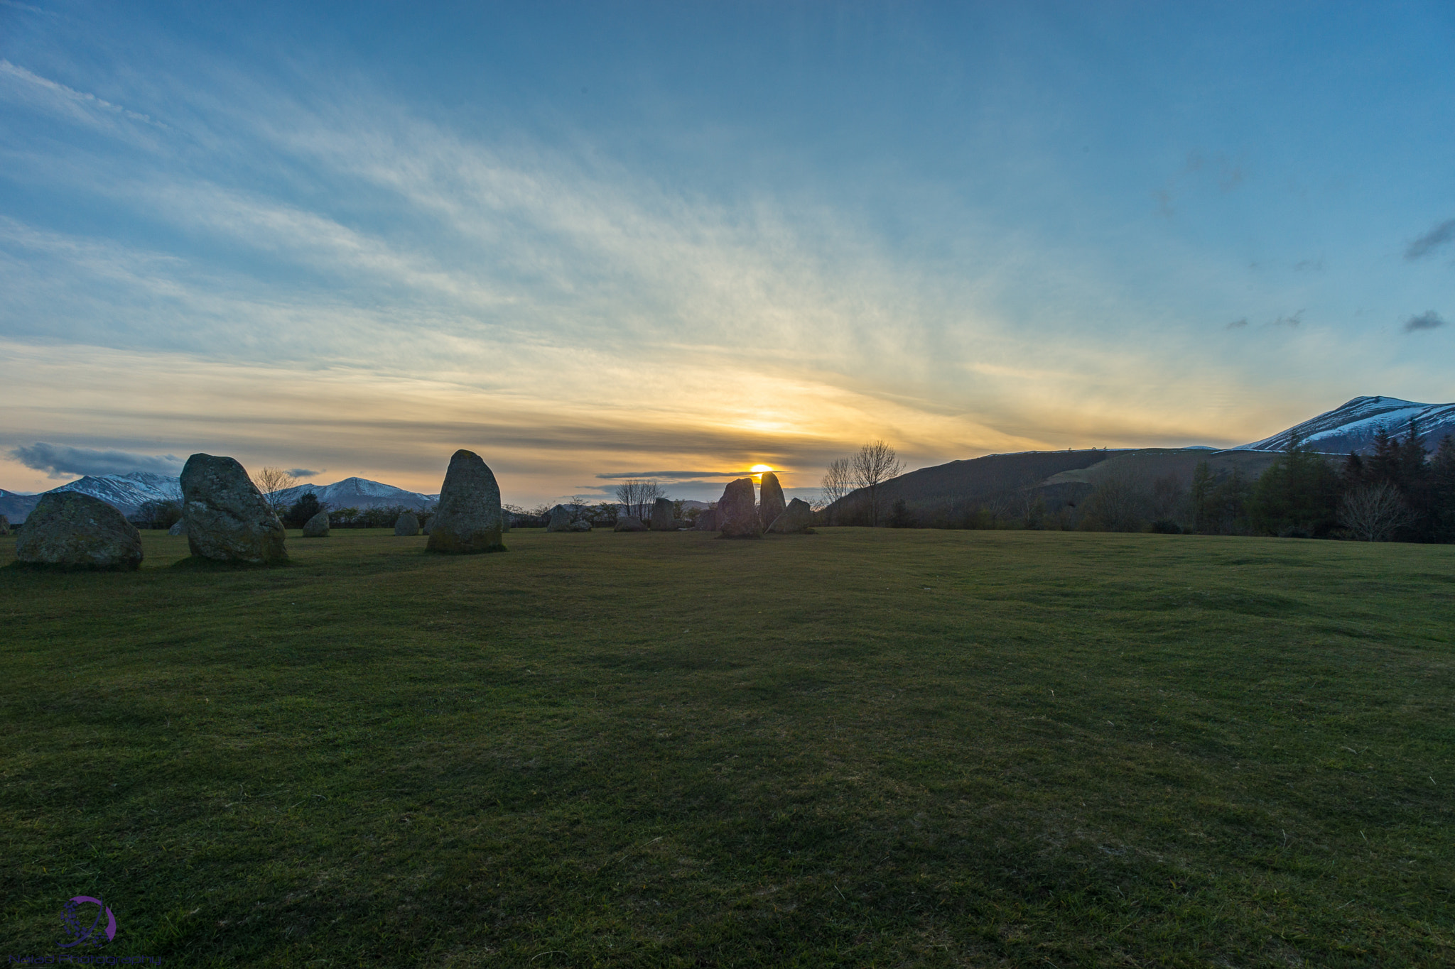
{"label": "low, wide rounded grey boulder, leftmost of the large standing stones", "polygon": [[141,565],[141,533],[100,498],[52,491],[26,516],[15,556],[33,565],[132,569]]}

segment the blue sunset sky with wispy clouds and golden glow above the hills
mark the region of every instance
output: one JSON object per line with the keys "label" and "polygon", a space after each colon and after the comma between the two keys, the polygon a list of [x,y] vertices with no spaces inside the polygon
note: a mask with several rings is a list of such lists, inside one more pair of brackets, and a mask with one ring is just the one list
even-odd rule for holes
{"label": "blue sunset sky with wispy clouds and golden glow above the hills", "polygon": [[0,488],[506,501],[1455,400],[1448,3],[0,0]]}

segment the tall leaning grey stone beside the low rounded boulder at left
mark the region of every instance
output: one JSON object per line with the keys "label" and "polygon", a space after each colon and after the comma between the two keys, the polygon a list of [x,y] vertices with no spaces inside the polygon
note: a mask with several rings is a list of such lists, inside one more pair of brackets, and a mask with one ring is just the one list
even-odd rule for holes
{"label": "tall leaning grey stone beside the low rounded boulder at left", "polygon": [[284,562],[282,522],[231,458],[192,455],[182,468],[182,519],[192,555],[218,562]]}

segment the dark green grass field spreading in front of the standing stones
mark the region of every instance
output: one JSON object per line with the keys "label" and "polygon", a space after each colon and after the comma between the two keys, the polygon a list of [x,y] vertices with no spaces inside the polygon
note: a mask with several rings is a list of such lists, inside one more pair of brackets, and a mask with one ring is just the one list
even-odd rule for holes
{"label": "dark green grass field spreading in front of the standing stones", "polygon": [[0,569],[0,957],[1455,963],[1455,548],[508,539]]}

